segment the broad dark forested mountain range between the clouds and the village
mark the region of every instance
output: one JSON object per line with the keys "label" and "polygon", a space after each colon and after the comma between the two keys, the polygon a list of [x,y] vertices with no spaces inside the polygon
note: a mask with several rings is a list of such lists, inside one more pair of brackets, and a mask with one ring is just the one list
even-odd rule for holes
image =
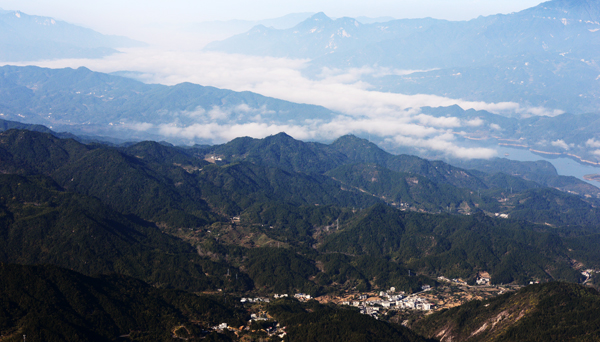
{"label": "broad dark forested mountain range between the clouds and the village", "polygon": [[478,271],[495,283],[579,281],[580,265],[598,265],[593,199],[353,136],[107,146],[12,129],[0,133],[0,167],[4,262],[311,294],[414,292]]}

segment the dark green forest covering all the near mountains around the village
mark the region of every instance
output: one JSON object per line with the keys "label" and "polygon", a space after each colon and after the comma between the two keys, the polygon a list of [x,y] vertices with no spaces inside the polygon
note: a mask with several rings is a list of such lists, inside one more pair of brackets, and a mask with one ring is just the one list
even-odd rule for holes
{"label": "dark green forest covering all the near mountains around the village", "polygon": [[[21,331],[49,341],[235,340],[206,330],[246,324],[226,298],[410,294],[439,286],[439,276],[473,284],[480,272],[493,284],[580,283],[583,269],[600,267],[598,200],[532,181],[548,175],[542,166],[527,177],[522,165],[467,170],[353,136],[178,147],[9,129],[0,133],[0,262],[10,282],[0,330],[15,341]],[[44,292],[55,294],[46,301]],[[203,313],[212,306],[222,311]],[[268,312],[290,326],[291,341],[424,340],[351,309],[283,300]],[[181,331],[166,333],[173,327]]]}

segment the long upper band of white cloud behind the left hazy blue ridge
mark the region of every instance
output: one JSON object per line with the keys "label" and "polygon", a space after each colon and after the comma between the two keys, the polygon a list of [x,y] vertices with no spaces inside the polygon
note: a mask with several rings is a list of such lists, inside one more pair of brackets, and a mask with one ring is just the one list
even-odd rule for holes
{"label": "long upper band of white cloud behind the left hazy blue ridge", "polygon": [[[322,78],[303,77],[308,60],[256,57],[215,52],[181,52],[151,49],[125,49],[124,53],[104,59],[70,59],[33,64],[59,68],[86,66],[101,72],[137,71],[144,81],[174,85],[192,82],[235,91],[254,91],[288,101],[325,106],[351,115],[378,116],[408,108],[459,105],[463,109],[487,110],[493,113],[551,115],[544,108],[523,108],[514,102],[486,103],[450,99],[435,95],[404,95],[370,90],[360,81],[373,68],[324,72]],[[31,62],[20,63],[29,65]]]}

